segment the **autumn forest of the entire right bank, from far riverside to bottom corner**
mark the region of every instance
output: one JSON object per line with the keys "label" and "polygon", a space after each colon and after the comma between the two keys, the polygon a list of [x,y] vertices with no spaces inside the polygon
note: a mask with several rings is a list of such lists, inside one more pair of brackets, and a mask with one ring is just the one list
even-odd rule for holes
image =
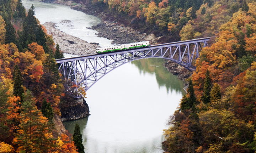
{"label": "autumn forest of the entire right bank, from far riverside to bottom corner", "polygon": [[216,36],[196,61],[163,146],[170,153],[256,152],[255,0],[74,0],[73,5],[152,32],[161,36],[159,43]]}

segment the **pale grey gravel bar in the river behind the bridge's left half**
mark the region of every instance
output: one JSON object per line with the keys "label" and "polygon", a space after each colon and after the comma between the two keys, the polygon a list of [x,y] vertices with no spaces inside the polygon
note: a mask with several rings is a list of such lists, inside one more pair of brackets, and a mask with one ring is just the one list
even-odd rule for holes
{"label": "pale grey gravel bar in the river behind the bridge's left half", "polygon": [[[70,24],[71,21],[63,20],[60,23]],[[69,53],[72,55],[90,55],[96,53],[96,48],[99,47],[96,44],[90,44],[85,40],[78,37],[66,34],[56,29],[56,24],[52,22],[46,22],[43,26],[47,30],[47,34],[53,36],[55,44],[59,44],[63,53]]]}

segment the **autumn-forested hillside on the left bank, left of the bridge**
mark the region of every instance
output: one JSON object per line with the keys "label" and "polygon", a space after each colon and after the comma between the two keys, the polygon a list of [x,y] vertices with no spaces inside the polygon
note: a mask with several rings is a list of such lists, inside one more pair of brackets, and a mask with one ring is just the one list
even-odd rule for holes
{"label": "autumn-forested hillside on the left bank, left of the bridge", "polygon": [[54,125],[69,98],[54,60],[63,53],[54,46],[33,5],[26,12],[21,0],[0,0],[1,153],[77,152]]}

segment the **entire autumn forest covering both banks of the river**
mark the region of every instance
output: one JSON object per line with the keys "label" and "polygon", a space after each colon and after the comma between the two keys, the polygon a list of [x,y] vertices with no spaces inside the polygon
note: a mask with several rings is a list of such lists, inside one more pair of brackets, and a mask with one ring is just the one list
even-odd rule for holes
{"label": "entire autumn forest covering both banks of the river", "polygon": [[[256,152],[256,0],[73,2],[103,20],[153,33],[159,44],[212,36],[187,79],[187,95],[170,114],[164,151]],[[55,62],[63,53],[34,13],[21,0],[0,0],[0,152],[84,152],[79,126],[73,136],[55,128],[78,86],[64,84]]]}

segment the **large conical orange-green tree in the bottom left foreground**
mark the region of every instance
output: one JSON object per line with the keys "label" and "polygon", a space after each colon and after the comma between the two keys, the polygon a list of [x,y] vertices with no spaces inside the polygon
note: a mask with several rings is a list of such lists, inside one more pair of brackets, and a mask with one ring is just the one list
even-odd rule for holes
{"label": "large conical orange-green tree in the bottom left foreground", "polygon": [[18,145],[17,152],[48,152],[54,139],[47,119],[35,106],[36,101],[30,90],[23,96],[20,130],[13,141]]}

